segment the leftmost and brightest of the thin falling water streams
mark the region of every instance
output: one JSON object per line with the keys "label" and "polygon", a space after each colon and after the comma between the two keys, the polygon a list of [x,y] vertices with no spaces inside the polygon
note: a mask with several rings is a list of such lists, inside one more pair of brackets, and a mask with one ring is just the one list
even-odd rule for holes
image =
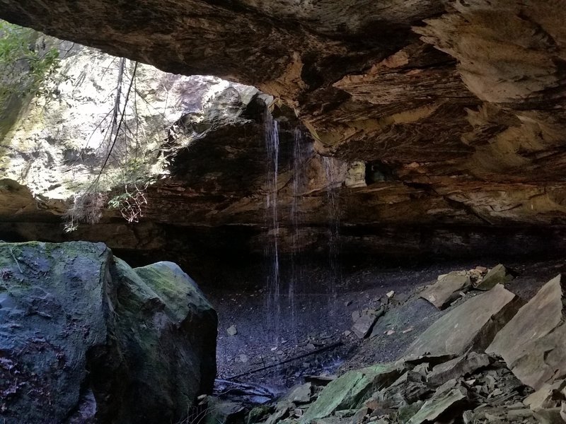
{"label": "leftmost and brightest of the thin falling water streams", "polygon": [[279,124],[267,110],[265,113],[265,148],[267,150],[266,257],[270,259],[267,273],[267,314],[279,343],[281,322],[281,281],[279,274],[279,213],[277,211],[277,175],[279,172]]}

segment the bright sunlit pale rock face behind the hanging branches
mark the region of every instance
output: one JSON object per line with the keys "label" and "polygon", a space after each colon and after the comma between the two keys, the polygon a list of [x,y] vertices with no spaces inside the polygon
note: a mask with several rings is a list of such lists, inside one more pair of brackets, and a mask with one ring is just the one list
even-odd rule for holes
{"label": "bright sunlit pale rock face behind the hanging branches", "polygon": [[[59,68],[21,110],[1,143],[3,176],[50,199],[69,199],[93,184],[111,146],[95,190],[128,182],[132,171],[145,179],[166,173],[160,148],[180,119],[192,127],[207,125],[187,134],[187,146],[209,127],[236,120],[238,107],[258,92],[219,78],[136,67],[132,61],[70,42],[58,47]],[[112,122],[116,105],[117,119]]]}

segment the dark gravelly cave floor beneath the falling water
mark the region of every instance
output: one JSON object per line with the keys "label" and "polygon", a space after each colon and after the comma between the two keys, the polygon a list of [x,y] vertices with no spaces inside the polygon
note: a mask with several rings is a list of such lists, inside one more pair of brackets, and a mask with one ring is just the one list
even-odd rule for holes
{"label": "dark gravelly cave floor beneath the falling water", "polygon": [[[499,261],[478,259],[428,264],[348,264],[340,267],[334,293],[325,288],[337,276],[328,266],[302,266],[297,293],[290,300],[286,290],[279,298],[279,310],[269,306],[270,298],[262,276],[246,290],[204,290],[219,313],[217,348],[218,377],[230,379],[250,370],[291,360],[284,365],[238,377],[238,382],[258,384],[275,394],[304,381],[307,375],[337,374],[372,363],[395,360],[422,331],[446,311],[439,311],[416,294],[422,286],[450,271],[495,266]],[[566,271],[558,259],[516,259],[502,261],[516,273],[507,288],[521,298],[531,298],[550,278]],[[249,278],[249,276],[248,276]],[[306,288],[301,290],[301,288]],[[379,306],[380,299],[393,290],[395,295],[386,315],[381,317],[373,338],[359,339],[352,332],[352,312]],[[456,301],[451,307],[459,302]],[[278,318],[277,318],[277,314]],[[236,327],[231,336],[228,329]],[[387,334],[388,331],[395,331]]]}

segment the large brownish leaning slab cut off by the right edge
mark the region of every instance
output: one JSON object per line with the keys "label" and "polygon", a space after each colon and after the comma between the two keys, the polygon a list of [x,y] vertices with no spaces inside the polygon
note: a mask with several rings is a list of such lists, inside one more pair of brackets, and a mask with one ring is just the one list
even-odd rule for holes
{"label": "large brownish leaning slab cut off by the right edge", "polygon": [[559,275],[521,307],[486,350],[501,356],[521,382],[537,390],[566,375],[562,296]]}

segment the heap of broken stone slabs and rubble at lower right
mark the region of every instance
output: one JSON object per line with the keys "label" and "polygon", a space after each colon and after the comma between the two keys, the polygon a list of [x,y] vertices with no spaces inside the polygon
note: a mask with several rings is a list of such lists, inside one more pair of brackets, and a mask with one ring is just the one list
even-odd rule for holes
{"label": "heap of broken stone slabs and rubble at lower right", "polygon": [[475,271],[472,284],[496,276],[498,283],[444,314],[400,360],[324,387],[312,380],[246,423],[566,423],[561,276],[521,307],[502,285],[510,280],[503,266]]}

